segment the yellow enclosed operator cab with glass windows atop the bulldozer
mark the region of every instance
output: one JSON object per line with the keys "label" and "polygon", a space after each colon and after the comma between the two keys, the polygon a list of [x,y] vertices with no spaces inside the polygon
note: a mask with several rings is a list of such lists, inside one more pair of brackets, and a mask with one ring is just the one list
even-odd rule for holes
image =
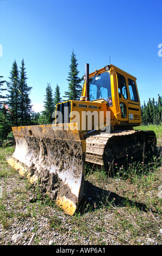
{"label": "yellow enclosed operator cab with glass windows atop the bulldozer", "polygon": [[107,103],[114,125],[140,125],[141,109],[136,78],[127,72],[114,65],[92,72],[89,80],[85,79],[80,100],[85,101],[86,95],[89,95],[86,101]]}

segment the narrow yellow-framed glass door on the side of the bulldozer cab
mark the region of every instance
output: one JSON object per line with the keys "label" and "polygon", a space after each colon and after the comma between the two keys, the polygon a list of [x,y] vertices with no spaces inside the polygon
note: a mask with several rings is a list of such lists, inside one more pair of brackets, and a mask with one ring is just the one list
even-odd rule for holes
{"label": "narrow yellow-framed glass door on the side of the bulldozer cab", "polygon": [[116,72],[118,83],[119,106],[121,112],[121,121],[128,121],[128,88],[126,76]]}

